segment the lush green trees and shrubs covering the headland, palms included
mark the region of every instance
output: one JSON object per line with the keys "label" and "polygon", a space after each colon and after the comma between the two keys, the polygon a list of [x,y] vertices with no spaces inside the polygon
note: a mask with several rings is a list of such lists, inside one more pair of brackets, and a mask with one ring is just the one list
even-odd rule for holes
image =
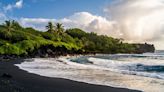
{"label": "lush green trees and shrubs covering the headland, palms included", "polygon": [[42,32],[34,28],[24,28],[16,21],[5,21],[0,25],[0,55],[15,56],[55,56],[83,53],[143,53],[153,52],[154,46],[123,43],[96,33],[86,33],[81,29],[65,30],[63,25],[51,22]]}

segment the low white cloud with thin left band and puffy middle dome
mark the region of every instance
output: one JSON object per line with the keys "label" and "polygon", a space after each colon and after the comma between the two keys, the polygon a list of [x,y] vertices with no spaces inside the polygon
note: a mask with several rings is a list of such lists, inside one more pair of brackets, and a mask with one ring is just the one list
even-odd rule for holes
{"label": "low white cloud with thin left band and puffy middle dome", "polygon": [[[21,18],[20,22],[24,26],[32,26],[39,30],[45,30],[44,26],[49,22],[61,22],[66,28],[81,28],[87,32],[96,32],[98,34],[116,35],[115,22],[108,21],[102,16],[96,16],[88,12],[78,12],[72,16],[62,19],[44,19],[44,18]],[[38,26],[39,25],[39,26]],[[112,30],[112,31],[110,31]]]}

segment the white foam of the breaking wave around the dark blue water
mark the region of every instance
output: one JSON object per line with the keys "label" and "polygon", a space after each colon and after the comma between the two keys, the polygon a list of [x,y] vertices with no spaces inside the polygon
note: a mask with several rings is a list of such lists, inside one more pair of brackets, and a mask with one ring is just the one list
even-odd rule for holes
{"label": "white foam of the breaking wave around the dark blue water", "polygon": [[[151,77],[151,78],[159,78],[164,79],[164,73],[148,73],[148,72],[138,72],[138,71],[129,71],[129,70],[122,70],[121,66],[133,66],[137,64],[143,65],[164,65],[164,62],[154,62],[154,61],[116,61],[116,60],[107,60],[107,59],[99,59],[99,58],[89,58],[89,61],[93,62],[94,65],[100,67],[106,67],[107,70],[123,73],[123,74],[131,74],[131,75],[139,75],[144,77]],[[135,66],[134,66],[135,68]]]}

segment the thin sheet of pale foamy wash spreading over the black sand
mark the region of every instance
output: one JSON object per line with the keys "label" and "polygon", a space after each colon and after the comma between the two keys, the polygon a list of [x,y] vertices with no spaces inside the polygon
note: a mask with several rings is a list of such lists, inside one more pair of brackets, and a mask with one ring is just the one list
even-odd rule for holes
{"label": "thin sheet of pale foamy wash spreading over the black sand", "polygon": [[97,85],[164,92],[164,80],[113,72],[108,68],[71,62],[66,58],[33,58],[21,64],[20,69],[46,77],[64,78]]}

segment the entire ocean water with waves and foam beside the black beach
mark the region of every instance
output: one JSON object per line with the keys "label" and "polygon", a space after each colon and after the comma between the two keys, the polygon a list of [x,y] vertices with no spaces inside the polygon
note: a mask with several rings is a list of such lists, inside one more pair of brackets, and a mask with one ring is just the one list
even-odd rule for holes
{"label": "entire ocean water with waves and foam beside the black beach", "polygon": [[164,92],[164,52],[95,56],[33,58],[17,64],[41,76],[90,84]]}

